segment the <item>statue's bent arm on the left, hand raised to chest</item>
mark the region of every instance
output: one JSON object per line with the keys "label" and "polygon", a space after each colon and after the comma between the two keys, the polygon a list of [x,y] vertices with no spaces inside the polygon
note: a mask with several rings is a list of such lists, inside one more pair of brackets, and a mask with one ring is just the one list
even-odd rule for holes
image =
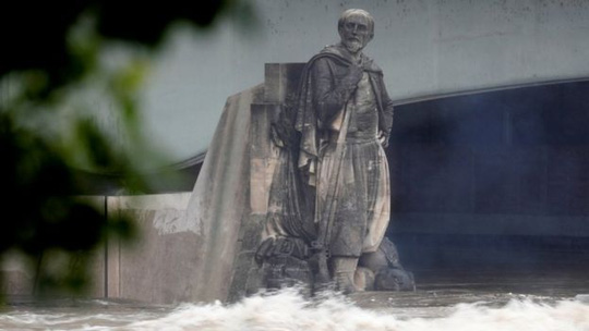
{"label": "statue's bent arm on the left, hand raised to chest", "polygon": [[362,78],[362,70],[358,66],[338,69],[329,59],[325,58],[313,63],[311,75],[314,90],[313,103],[320,125],[330,123]]}

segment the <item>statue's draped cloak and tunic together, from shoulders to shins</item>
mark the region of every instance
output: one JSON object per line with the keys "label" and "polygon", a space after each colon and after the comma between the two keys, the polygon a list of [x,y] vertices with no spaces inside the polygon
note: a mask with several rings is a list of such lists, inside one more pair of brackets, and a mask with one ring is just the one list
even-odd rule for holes
{"label": "statue's draped cloak and tunic together, from shoulders to shins", "polygon": [[[301,132],[299,167],[316,188],[315,221],[332,224],[328,248],[334,256],[358,257],[377,249],[390,217],[386,156],[378,134],[386,137],[393,119],[382,71],[362,56],[362,78],[346,85],[351,60],[345,49],[328,47],[303,73],[296,128]],[[338,168],[337,137],[349,112]],[[336,196],[329,185],[337,185]],[[332,191],[333,192],[333,191]],[[333,208],[327,220],[325,208]]]}

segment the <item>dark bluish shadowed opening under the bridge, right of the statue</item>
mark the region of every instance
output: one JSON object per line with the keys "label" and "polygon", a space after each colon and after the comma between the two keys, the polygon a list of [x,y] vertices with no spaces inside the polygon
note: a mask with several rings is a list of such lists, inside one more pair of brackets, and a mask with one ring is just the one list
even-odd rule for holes
{"label": "dark bluish shadowed opening under the bridge, right of the statue", "polygon": [[388,235],[419,274],[586,272],[589,82],[400,105]]}

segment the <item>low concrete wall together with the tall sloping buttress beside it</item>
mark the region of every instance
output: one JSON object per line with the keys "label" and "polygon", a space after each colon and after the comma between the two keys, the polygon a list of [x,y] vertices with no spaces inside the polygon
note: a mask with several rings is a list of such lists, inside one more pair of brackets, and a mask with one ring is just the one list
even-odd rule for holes
{"label": "low concrete wall together with the tall sloping buttress beside it", "polygon": [[135,217],[142,237],[118,249],[110,243],[109,297],[228,298],[236,257],[248,256],[239,255],[239,236],[250,214],[250,106],[262,95],[257,86],[228,98],[192,193],[109,198],[109,212]]}

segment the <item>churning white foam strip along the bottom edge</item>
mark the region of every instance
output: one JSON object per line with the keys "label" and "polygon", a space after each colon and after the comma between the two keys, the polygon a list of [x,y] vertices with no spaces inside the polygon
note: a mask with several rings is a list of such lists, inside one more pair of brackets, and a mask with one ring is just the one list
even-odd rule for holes
{"label": "churning white foam strip along the bottom edge", "polygon": [[[395,295],[395,294],[392,294]],[[0,315],[1,330],[390,330],[589,331],[589,305],[579,301],[517,296],[450,306],[361,308],[349,298],[305,299],[296,291],[221,305],[177,307],[15,308]]]}

